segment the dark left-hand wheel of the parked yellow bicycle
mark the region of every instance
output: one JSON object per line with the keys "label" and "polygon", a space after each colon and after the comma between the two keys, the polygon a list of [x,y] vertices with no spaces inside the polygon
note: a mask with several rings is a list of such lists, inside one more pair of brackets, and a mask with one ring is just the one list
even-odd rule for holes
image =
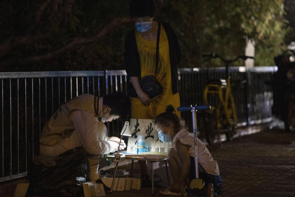
{"label": "dark left-hand wheel of the parked yellow bicycle", "polygon": [[217,130],[217,112],[205,113],[201,121],[201,129],[204,132],[208,144],[213,144],[218,134]]}

